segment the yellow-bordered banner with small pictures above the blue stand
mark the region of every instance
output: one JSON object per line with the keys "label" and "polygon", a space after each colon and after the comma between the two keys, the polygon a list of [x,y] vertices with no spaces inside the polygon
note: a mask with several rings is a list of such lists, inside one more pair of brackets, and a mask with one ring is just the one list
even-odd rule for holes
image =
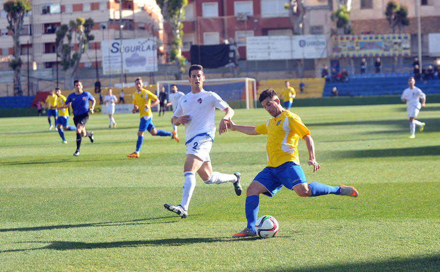
{"label": "yellow-bordered banner with small pictures above the blue stand", "polygon": [[333,58],[410,56],[409,34],[336,35]]}

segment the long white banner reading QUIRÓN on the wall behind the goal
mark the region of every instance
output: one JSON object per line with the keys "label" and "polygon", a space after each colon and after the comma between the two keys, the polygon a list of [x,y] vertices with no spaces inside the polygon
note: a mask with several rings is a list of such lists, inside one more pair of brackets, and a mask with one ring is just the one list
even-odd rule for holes
{"label": "long white banner reading QUIR\u00d3N on the wall behind the goal", "polygon": [[248,60],[327,58],[325,35],[246,37]]}

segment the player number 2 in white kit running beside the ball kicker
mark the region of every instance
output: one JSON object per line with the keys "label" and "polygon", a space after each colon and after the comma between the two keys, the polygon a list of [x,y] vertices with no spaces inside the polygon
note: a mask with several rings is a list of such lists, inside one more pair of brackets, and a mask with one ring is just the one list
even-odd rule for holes
{"label": "player number 2 in white kit running beside the ball kicker", "polygon": [[227,121],[234,116],[234,110],[214,92],[203,90],[203,67],[191,65],[189,69],[191,92],[180,97],[173,114],[176,126],[185,126],[186,161],[183,166],[185,181],[183,183],[182,201],[173,206],[164,204],[165,209],[180,215],[188,216],[188,206],[196,186],[196,172],[206,184],[232,182],[237,195],[242,194],[241,174],[233,175],[213,172],[209,152],[216,133],[214,123],[216,108],[225,112],[220,121],[219,134],[227,131]]}

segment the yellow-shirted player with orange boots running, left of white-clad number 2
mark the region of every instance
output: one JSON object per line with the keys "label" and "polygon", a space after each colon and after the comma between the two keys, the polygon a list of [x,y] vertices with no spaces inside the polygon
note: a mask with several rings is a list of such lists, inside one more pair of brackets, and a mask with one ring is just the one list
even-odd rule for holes
{"label": "yellow-shirted player with orange boots running, left of white-clad number 2", "polygon": [[144,142],[144,133],[147,130],[153,136],[172,136],[172,138],[174,138],[175,134],[164,130],[156,130],[152,121],[153,114],[151,108],[159,104],[159,99],[152,92],[143,88],[144,84],[142,78],[136,78],[136,80],[134,80],[134,85],[136,87],[136,92],[133,94],[132,113],[134,114],[139,110],[140,123],[139,131],[137,132],[136,150],[127,156],[138,158],[140,148]]}

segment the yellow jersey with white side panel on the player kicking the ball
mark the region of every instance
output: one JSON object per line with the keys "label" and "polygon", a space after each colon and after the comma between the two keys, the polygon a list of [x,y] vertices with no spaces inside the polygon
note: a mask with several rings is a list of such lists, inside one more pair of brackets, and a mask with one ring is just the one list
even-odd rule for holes
{"label": "yellow jersey with white side panel on the player kicking the ball", "polygon": [[268,119],[255,130],[267,135],[267,166],[278,167],[287,161],[300,164],[298,140],[310,134],[301,118],[290,111],[282,112],[278,117]]}

